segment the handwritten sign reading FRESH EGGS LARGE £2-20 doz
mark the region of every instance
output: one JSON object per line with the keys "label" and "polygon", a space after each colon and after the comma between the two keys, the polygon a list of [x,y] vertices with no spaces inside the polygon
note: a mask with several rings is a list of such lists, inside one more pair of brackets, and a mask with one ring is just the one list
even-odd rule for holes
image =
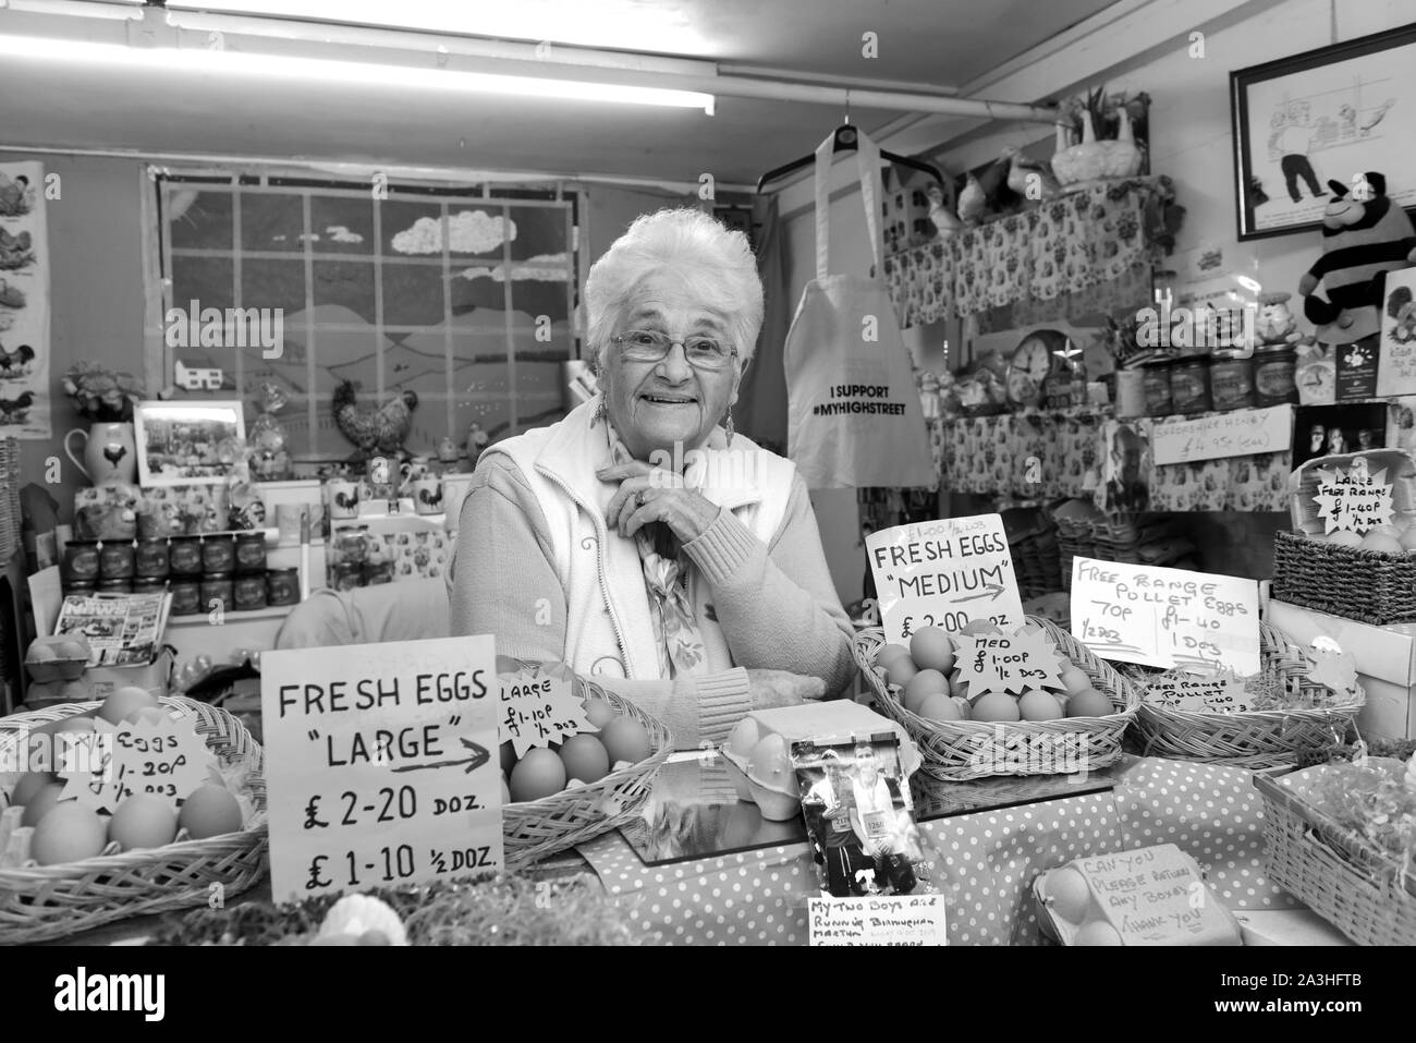
{"label": "handwritten sign reading FRESH EGGS LARGE \u00a32-20 doz", "polygon": [[276,901],[501,867],[493,639],[266,652]]}

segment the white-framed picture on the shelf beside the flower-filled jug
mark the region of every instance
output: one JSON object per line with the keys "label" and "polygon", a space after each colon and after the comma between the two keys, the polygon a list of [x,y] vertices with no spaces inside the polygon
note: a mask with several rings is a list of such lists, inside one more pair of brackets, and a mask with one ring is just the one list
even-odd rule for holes
{"label": "white-framed picture on the shelf beside the flower-filled jug", "polygon": [[139,402],[137,482],[218,485],[244,451],[246,427],[241,402]]}

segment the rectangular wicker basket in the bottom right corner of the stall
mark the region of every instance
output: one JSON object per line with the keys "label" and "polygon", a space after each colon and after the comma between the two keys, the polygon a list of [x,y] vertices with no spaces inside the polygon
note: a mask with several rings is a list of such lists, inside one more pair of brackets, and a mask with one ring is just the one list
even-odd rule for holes
{"label": "rectangular wicker basket in the bottom right corner of the stall", "polygon": [[1416,896],[1400,867],[1277,779],[1263,794],[1264,872],[1358,945],[1416,945]]}

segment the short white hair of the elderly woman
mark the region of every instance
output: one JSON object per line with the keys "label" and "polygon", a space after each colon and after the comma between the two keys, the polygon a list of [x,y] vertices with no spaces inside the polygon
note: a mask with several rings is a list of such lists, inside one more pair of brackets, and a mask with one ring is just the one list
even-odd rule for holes
{"label": "short white hair of the elderly woman", "polygon": [[704,308],[726,316],[728,336],[743,364],[758,350],[762,279],[748,237],[683,207],[644,214],[590,266],[585,281],[585,357],[599,366],[615,327],[650,275],[690,282]]}

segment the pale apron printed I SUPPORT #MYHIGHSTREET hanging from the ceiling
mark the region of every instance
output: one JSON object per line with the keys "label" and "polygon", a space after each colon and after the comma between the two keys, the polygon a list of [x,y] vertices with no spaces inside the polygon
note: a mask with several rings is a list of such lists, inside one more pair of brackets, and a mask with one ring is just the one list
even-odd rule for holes
{"label": "pale apron printed I SUPPORT #MYHIGHSTREET hanging from the ceiling", "polygon": [[828,274],[833,135],[816,150],[816,279],[786,340],[787,455],[810,489],[933,489],[939,476],[909,349],[879,278],[879,146],[857,135],[877,278]]}

